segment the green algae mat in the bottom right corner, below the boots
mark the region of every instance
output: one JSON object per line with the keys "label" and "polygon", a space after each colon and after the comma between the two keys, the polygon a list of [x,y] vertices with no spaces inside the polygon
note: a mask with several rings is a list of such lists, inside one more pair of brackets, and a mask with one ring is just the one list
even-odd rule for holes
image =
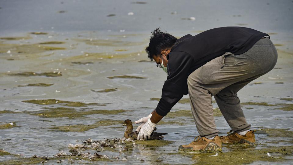
{"label": "green algae mat in the bottom right corner, below the boots", "polygon": [[[256,161],[264,162],[282,162],[290,159],[283,159],[286,156],[292,156],[293,146],[268,147],[262,149],[233,149],[233,151],[218,153],[218,156],[211,156],[209,153],[190,153],[176,152],[168,153],[168,155],[181,155],[191,157],[196,164],[249,164]],[[274,156],[280,158],[268,157],[267,152],[274,153]]]}

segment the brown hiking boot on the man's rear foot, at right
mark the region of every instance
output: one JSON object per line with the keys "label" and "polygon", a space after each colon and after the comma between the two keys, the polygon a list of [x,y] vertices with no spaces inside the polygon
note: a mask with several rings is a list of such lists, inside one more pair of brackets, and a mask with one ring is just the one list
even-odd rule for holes
{"label": "brown hiking boot on the man's rear foot, at right", "polygon": [[241,143],[245,145],[255,145],[254,132],[257,130],[250,130],[245,135],[238,134],[237,132],[227,132],[227,136],[220,136],[222,143]]}

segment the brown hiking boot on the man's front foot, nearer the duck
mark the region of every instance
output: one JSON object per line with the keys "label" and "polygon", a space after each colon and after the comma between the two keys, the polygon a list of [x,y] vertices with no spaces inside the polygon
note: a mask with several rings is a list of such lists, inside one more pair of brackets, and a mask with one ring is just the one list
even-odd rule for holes
{"label": "brown hiking boot on the man's front foot, nearer the duck", "polygon": [[180,151],[194,151],[194,152],[221,152],[222,144],[219,136],[215,136],[210,140],[204,136],[197,136],[189,145],[180,145]]}

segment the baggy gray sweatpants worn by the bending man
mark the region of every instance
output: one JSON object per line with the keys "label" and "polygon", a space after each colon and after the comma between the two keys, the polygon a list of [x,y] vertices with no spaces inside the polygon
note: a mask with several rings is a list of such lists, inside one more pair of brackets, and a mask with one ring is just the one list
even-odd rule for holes
{"label": "baggy gray sweatpants worn by the bending man", "polygon": [[243,54],[226,52],[192,72],[188,79],[191,111],[200,135],[218,135],[212,110],[212,96],[233,131],[250,129],[237,92],[266,74],[277,63],[277,50],[269,38],[260,39]]}

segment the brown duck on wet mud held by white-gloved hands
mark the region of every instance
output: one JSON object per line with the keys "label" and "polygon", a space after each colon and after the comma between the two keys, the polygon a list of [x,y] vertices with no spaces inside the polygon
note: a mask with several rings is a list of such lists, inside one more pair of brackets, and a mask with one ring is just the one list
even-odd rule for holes
{"label": "brown duck on wet mud held by white-gloved hands", "polygon": [[[133,126],[132,126],[132,122],[131,120],[127,119],[124,121],[124,123],[121,125],[122,126],[126,126],[125,132],[124,132],[124,137],[125,138],[130,138],[133,140],[137,140],[137,136],[138,136],[138,132],[132,132],[133,130]],[[154,129],[154,131],[157,130],[157,128]],[[167,133],[160,133],[160,132],[154,132],[150,135],[150,140],[153,139],[159,139],[161,140],[162,138],[160,136],[162,135],[166,135]]]}

